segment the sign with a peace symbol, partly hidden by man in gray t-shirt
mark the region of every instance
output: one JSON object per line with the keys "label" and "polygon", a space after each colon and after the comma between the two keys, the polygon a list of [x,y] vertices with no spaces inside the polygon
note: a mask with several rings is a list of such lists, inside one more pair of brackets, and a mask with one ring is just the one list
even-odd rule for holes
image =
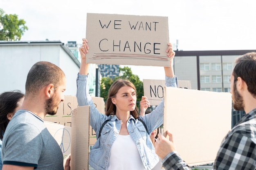
{"label": "sign with a peace symbol, partly hidden by man in gray t-shirt", "polygon": [[45,126],[61,147],[63,159],[67,158],[71,153],[71,127],[48,121],[45,121]]}

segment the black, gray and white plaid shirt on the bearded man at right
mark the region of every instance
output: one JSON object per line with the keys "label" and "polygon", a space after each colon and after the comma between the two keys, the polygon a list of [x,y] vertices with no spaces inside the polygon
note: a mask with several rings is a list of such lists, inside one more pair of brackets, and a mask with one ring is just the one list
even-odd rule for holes
{"label": "black, gray and white plaid shirt on the bearded man at right", "polygon": [[[166,170],[190,170],[177,152],[163,160]],[[247,113],[223,139],[213,163],[214,170],[256,169],[256,109]]]}

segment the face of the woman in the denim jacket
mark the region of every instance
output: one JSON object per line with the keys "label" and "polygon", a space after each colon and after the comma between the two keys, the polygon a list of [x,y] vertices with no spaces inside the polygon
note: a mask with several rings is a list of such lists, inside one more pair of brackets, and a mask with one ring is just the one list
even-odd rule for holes
{"label": "face of the woman in the denim jacket", "polygon": [[130,86],[121,87],[115,97],[112,99],[112,103],[116,105],[117,112],[120,111],[134,111],[136,107],[136,92]]}

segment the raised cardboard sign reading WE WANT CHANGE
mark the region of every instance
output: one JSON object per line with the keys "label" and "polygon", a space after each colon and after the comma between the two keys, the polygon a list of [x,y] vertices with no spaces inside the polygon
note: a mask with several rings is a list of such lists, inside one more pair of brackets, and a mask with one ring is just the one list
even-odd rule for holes
{"label": "raised cardboard sign reading WE WANT CHANGE", "polygon": [[170,66],[168,17],[87,13],[87,63]]}

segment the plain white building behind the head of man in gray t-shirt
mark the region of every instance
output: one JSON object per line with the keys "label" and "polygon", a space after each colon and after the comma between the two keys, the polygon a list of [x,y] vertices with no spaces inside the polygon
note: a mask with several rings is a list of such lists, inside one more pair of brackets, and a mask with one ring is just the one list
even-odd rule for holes
{"label": "plain white building behind the head of man in gray t-shirt", "polygon": [[25,93],[27,74],[38,61],[60,67],[67,78],[64,95],[76,95],[80,62],[61,41],[0,41],[0,93],[16,89]]}

